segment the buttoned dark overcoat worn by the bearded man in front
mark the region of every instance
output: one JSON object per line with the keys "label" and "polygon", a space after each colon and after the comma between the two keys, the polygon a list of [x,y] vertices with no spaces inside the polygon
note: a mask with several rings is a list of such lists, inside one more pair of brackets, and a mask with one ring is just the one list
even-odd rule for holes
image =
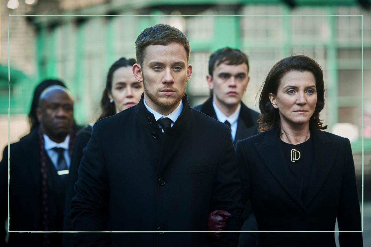
{"label": "buttoned dark overcoat worn by the bearded man in front", "polygon": [[[243,207],[236,155],[226,125],[191,109],[162,134],[138,105],[95,123],[75,185],[71,218],[77,231],[205,231],[209,213],[232,214],[239,231]],[[108,221],[108,228],[106,222]],[[208,246],[206,233],[112,233],[112,246]],[[229,239],[227,239],[229,238]],[[238,233],[209,246],[237,246]],[[81,234],[95,246],[101,235]]]}

